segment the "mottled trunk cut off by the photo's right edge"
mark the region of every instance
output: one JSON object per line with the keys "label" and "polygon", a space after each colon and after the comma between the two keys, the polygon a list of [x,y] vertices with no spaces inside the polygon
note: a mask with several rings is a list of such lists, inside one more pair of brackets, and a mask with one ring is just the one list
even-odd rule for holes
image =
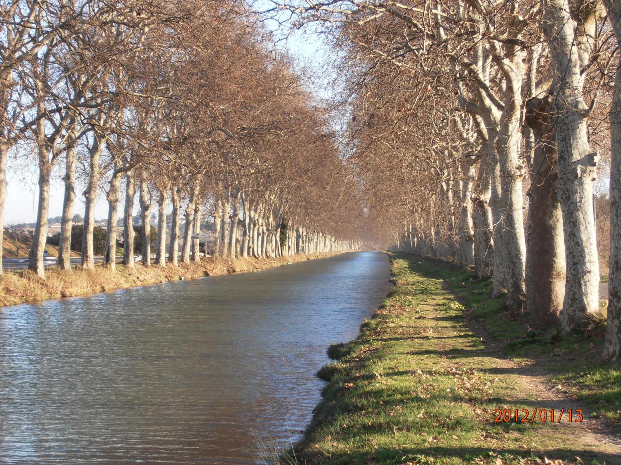
{"label": "mottled trunk cut off by the photo's right edge", "polygon": [[[621,45],[621,4],[605,0],[610,24]],[[608,317],[602,358],[621,358],[621,67],[617,68],[614,95],[610,106],[610,263],[608,282]]]}

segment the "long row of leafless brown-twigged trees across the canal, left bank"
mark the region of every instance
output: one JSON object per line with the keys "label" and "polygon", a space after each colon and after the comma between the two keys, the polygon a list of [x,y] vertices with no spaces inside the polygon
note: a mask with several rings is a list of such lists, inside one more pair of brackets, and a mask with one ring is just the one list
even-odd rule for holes
{"label": "long row of leafless brown-twigged trees across the canal, left bank", "polygon": [[160,268],[198,262],[207,231],[215,259],[356,248],[361,203],[325,111],[245,3],[11,0],[0,24],[0,226],[7,169],[35,168],[37,277],[54,176],[65,187],[65,273],[79,200],[81,267],[94,270],[97,198],[108,204],[111,271],[121,229],[125,270],[137,253],[145,268],[152,254]]}

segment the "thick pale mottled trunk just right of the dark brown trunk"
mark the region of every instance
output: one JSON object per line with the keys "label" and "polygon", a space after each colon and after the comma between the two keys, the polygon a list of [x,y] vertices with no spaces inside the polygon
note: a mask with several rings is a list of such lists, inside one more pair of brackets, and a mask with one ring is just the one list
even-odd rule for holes
{"label": "thick pale mottled trunk just right of the dark brown trunk", "polygon": [[[595,36],[596,4],[584,4],[578,29],[567,0],[548,0],[543,27],[550,47],[553,76],[551,113],[558,149],[558,199],[563,211],[566,285],[561,313],[564,332],[581,327],[599,306],[599,259],[592,207],[597,153],[589,148],[582,98],[582,68]],[[589,9],[591,11],[589,11]],[[577,33],[574,33],[577,32]]]}

